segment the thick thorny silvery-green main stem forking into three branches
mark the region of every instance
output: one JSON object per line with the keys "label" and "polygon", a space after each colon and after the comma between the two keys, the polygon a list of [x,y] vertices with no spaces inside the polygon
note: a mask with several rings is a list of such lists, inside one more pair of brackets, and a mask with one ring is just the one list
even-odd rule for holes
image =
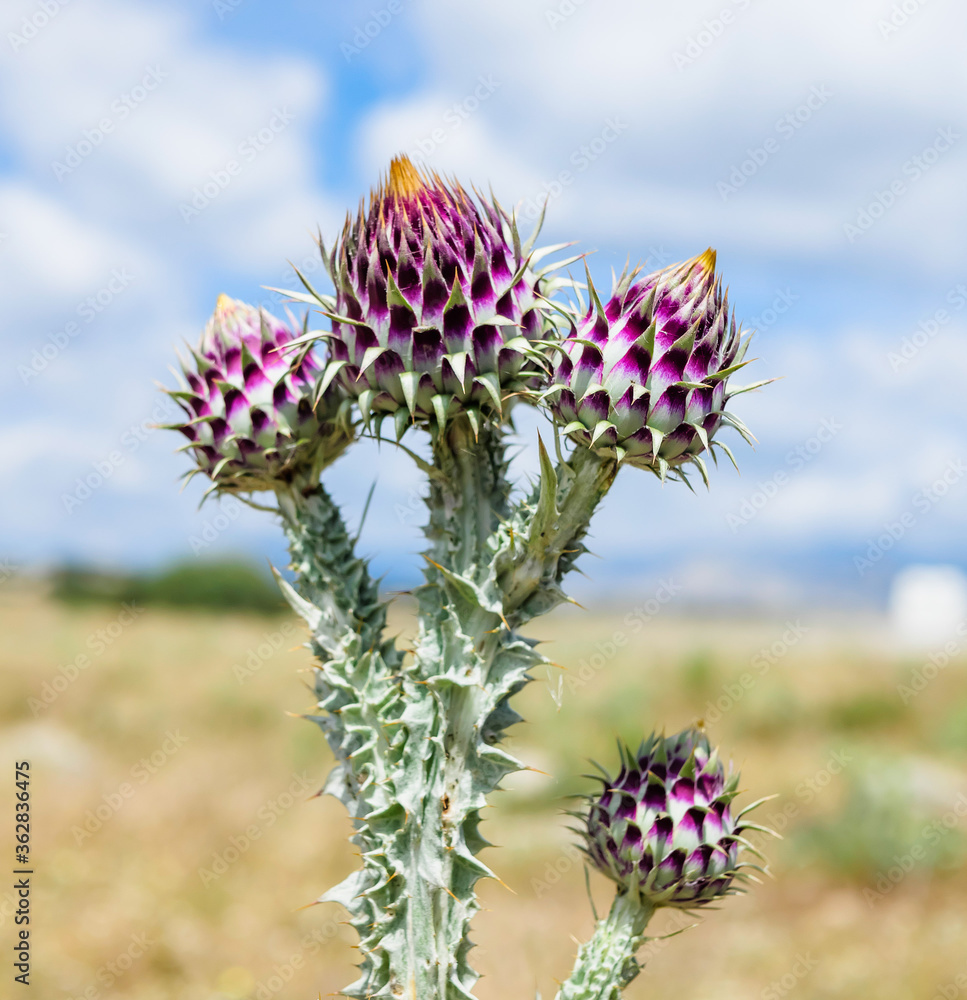
{"label": "thick thorny silvery-green main stem forking into three branches", "polygon": [[363,852],[363,868],[326,897],[360,935],[351,996],[470,997],[474,886],[491,874],[476,857],[480,809],[521,766],[498,744],[519,718],[510,698],[544,662],[515,628],[564,599],[560,581],[616,473],[583,449],[557,470],[542,454],[541,483],[512,508],[504,435],[488,422],[475,432],[466,416],[433,433],[427,582],[408,662],[382,640],[375,581],[325,490],[279,495],[295,603],[320,660],[315,721],[341,762],[327,790],[356,817]]}

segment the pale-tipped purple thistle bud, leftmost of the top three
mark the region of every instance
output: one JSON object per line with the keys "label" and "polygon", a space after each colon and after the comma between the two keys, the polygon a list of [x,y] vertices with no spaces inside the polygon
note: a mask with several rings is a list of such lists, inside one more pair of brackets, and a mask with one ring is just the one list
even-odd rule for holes
{"label": "pale-tipped purple thistle bud, leftmost of the top three", "polygon": [[188,438],[189,475],[205,473],[213,489],[270,490],[318,476],[350,443],[348,400],[333,389],[313,408],[317,364],[280,350],[296,336],[264,309],[219,296],[194,367],[182,366],[186,388],[168,390],[187,416],[168,427]]}

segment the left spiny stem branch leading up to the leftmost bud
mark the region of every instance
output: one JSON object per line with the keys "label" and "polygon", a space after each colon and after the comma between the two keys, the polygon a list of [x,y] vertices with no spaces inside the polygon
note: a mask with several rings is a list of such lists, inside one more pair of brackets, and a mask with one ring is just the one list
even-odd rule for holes
{"label": "left spiny stem branch leading up to the leftmost bud", "polygon": [[295,588],[280,585],[308,624],[317,659],[318,712],[306,718],[336,758],[323,790],[346,806],[363,856],[363,868],[320,901],[338,901],[349,911],[363,957],[361,995],[386,995],[386,924],[398,902],[386,834],[388,828],[392,837],[405,814],[392,781],[403,742],[402,654],[382,639],[386,608],[377,583],[329,494],[318,484],[296,483],[278,490],[278,504],[296,574]]}

